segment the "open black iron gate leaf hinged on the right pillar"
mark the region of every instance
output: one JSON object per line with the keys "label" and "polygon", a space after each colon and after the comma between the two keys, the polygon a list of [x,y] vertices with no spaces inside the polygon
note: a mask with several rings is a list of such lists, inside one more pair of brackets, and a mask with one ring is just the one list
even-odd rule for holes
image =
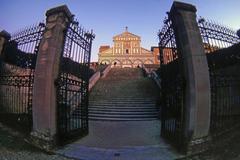
{"label": "open black iron gate leaf hinged on the right pillar", "polygon": [[164,20],[159,32],[161,74],[161,135],[173,145],[183,144],[183,112],[185,81],[180,67],[182,58],[177,51],[172,22]]}

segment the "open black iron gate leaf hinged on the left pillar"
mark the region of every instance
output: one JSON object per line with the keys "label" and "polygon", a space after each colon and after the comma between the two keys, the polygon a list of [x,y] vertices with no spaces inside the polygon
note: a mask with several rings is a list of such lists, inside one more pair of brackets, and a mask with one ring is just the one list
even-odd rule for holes
{"label": "open black iron gate leaf hinged on the left pillar", "polygon": [[88,133],[88,83],[94,34],[70,23],[58,78],[58,137],[64,143]]}

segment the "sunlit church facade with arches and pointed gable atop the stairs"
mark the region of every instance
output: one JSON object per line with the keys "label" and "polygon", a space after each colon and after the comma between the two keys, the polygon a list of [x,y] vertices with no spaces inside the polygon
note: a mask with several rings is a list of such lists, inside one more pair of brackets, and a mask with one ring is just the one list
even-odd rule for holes
{"label": "sunlit church facade with arches and pointed gable atop the stairs", "polygon": [[98,62],[115,67],[138,67],[159,64],[159,53],[141,47],[141,37],[125,32],[113,37],[113,46],[100,46]]}

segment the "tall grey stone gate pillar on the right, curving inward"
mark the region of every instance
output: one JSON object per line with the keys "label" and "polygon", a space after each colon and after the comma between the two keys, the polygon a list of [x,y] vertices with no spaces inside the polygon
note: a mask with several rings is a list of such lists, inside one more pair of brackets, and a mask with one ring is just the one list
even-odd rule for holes
{"label": "tall grey stone gate pillar on the right, curving inward", "polygon": [[[210,127],[210,79],[207,58],[193,5],[174,2],[170,11],[186,79],[185,128],[189,153],[203,147]],[[198,149],[197,149],[198,148]]]}

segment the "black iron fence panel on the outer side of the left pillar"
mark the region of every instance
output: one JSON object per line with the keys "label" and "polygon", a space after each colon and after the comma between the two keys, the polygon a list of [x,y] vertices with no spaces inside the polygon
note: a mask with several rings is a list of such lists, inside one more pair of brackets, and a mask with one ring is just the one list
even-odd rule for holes
{"label": "black iron fence panel on the outer side of the left pillar", "polygon": [[0,66],[0,119],[29,133],[34,69],[45,25],[26,28],[5,44]]}

